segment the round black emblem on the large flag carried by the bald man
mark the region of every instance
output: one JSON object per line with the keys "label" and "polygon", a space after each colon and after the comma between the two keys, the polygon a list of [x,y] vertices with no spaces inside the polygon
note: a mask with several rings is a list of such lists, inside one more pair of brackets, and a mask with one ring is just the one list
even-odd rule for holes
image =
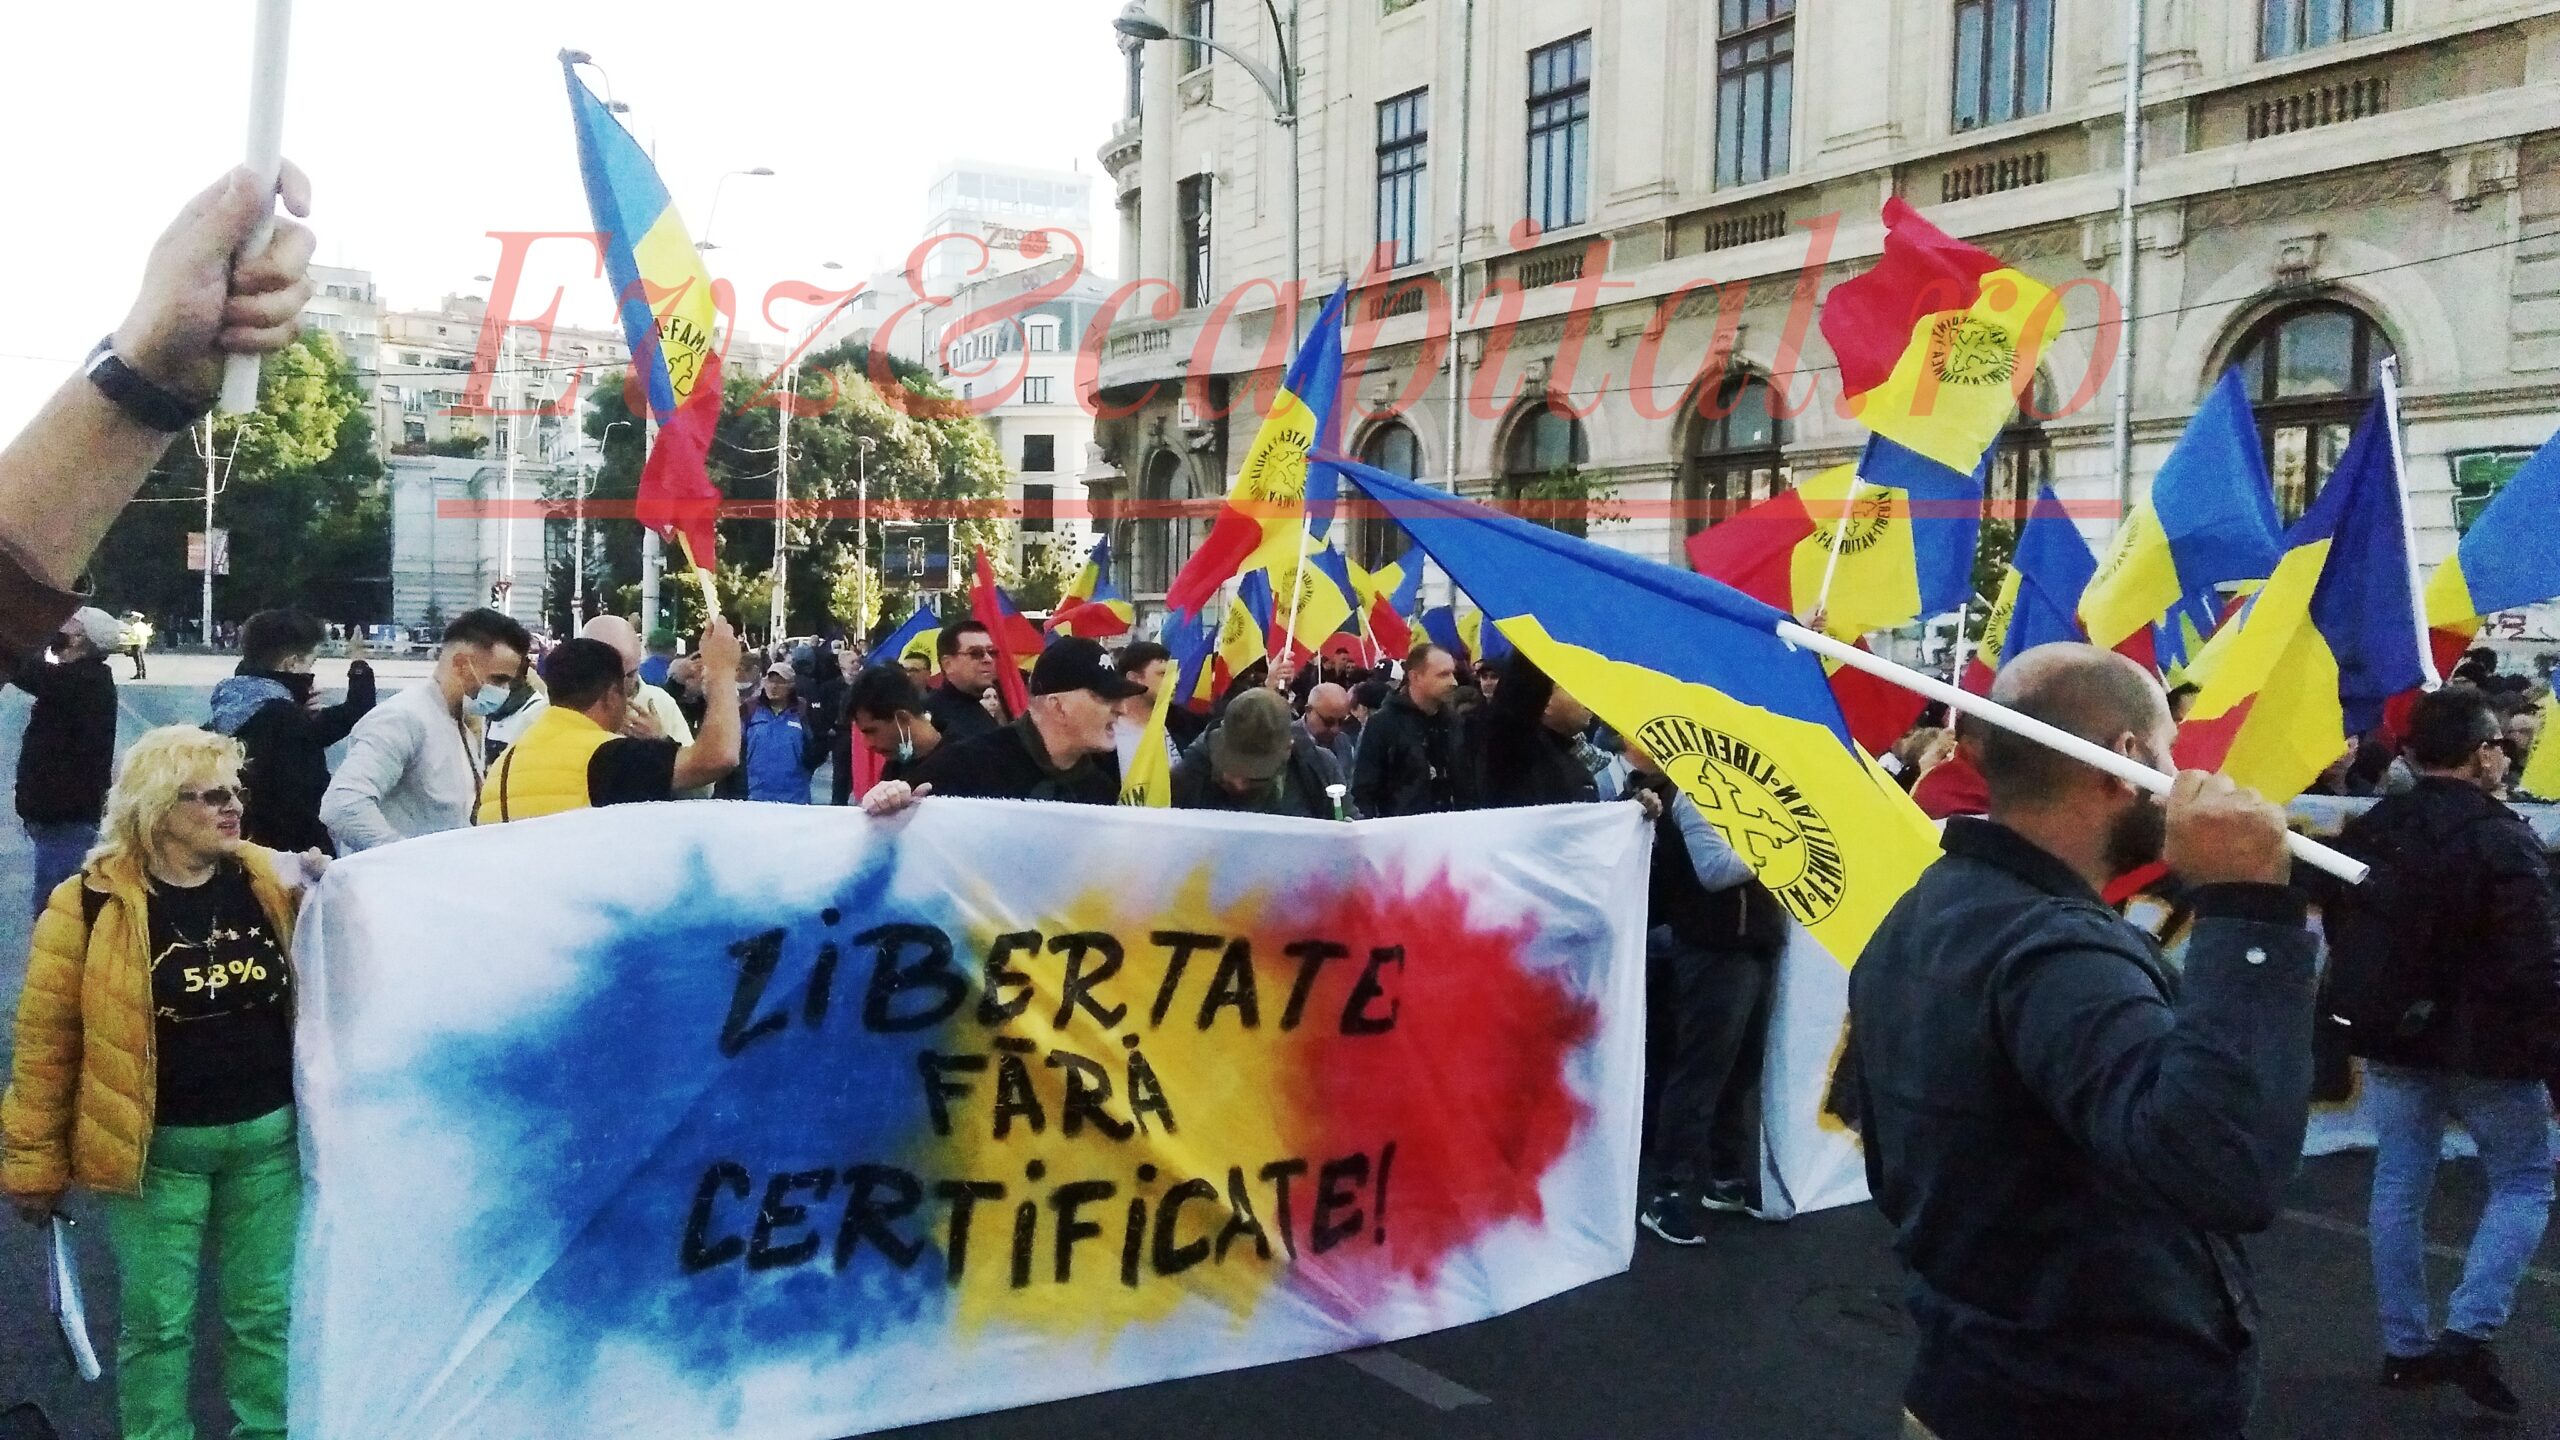
{"label": "round black emblem on the large flag carried by the bald man", "polygon": [[1841,907],[1848,894],[1841,838],[1769,756],[1684,715],[1649,720],[1636,740],[1751,861],[1789,915],[1818,925]]}

